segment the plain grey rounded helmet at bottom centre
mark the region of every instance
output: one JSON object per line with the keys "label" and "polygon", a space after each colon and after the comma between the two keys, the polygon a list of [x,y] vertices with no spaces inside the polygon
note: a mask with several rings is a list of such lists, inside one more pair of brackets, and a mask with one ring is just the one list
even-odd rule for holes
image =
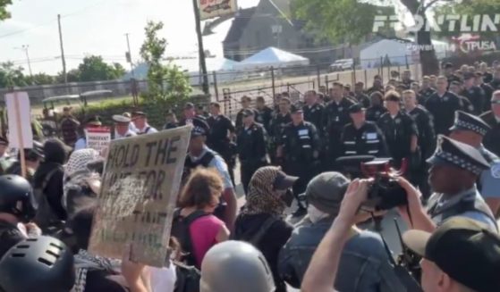
{"label": "plain grey rounded helmet at bottom centre", "polygon": [[200,292],[274,292],[266,258],[242,241],[225,241],[210,248],[201,263]]}

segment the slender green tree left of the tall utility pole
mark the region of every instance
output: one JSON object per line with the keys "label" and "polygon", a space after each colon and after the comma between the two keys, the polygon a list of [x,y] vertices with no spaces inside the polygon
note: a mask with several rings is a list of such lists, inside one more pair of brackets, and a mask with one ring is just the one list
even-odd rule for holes
{"label": "slender green tree left of the tall utility pole", "polygon": [[140,47],[140,56],[148,64],[148,96],[147,101],[158,104],[164,109],[180,103],[191,93],[188,76],[178,67],[164,65],[165,38],[158,36],[163,29],[163,22],[148,21],[146,39]]}

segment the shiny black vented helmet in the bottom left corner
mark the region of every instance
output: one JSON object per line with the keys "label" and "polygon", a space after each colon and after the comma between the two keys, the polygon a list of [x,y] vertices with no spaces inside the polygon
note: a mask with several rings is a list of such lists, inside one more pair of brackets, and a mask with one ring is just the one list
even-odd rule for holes
{"label": "shiny black vented helmet in the bottom left corner", "polygon": [[59,239],[28,238],[0,260],[4,292],[68,292],[75,282],[72,252]]}

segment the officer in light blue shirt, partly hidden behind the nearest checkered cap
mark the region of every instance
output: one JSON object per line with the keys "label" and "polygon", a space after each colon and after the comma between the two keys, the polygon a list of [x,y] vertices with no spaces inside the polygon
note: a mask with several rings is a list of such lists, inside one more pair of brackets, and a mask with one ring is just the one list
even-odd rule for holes
{"label": "officer in light blue shirt, partly hidden behind the nearest checkered cap", "polygon": [[487,123],[479,117],[456,112],[450,138],[475,147],[489,163],[490,167],[482,171],[479,177],[478,188],[493,214],[496,214],[500,211],[500,159],[482,145],[489,129]]}

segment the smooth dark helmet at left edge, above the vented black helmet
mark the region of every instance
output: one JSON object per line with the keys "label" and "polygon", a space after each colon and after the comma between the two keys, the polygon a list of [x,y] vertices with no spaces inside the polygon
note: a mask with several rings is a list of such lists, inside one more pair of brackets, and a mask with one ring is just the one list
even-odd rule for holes
{"label": "smooth dark helmet at left edge, above the vented black helmet", "polygon": [[38,204],[30,182],[19,175],[0,176],[0,212],[11,213],[28,222],[37,213]]}

